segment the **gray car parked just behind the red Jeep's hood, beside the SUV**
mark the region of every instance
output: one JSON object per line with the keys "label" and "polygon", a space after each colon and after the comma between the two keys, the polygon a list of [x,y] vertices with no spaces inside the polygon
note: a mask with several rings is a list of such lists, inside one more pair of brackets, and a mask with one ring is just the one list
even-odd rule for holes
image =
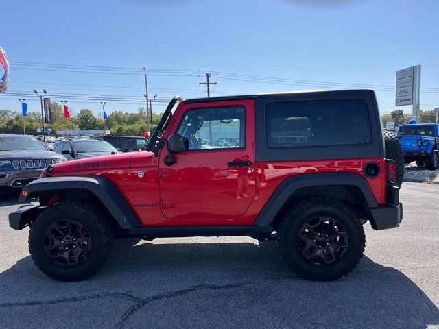
{"label": "gray car parked just behind the red Jeep's hood, beside the SUV", "polygon": [[121,153],[110,143],[99,139],[74,139],[73,141],[56,142],[54,144],[54,151],[65,156],[67,160]]}

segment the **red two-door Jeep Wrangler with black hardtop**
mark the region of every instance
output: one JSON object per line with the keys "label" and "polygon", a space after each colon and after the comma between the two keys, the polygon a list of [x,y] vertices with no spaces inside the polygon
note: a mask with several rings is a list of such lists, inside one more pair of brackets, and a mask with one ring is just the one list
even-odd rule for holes
{"label": "red two-door Jeep Wrangler with black hardtop", "polygon": [[10,226],[29,226],[34,263],[57,280],[91,276],[115,238],[228,235],[274,239],[299,276],[335,280],[359,263],[366,221],[401,222],[384,139],[371,90],[174,97],[147,151],[54,164]]}

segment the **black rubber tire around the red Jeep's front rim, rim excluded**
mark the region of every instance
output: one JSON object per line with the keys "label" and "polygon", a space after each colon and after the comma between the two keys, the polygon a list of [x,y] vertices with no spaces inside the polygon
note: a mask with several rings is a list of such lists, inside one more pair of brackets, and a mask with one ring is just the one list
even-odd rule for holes
{"label": "black rubber tire around the red Jeep's front rim, rim excluded", "polygon": [[[60,220],[80,223],[91,237],[87,258],[73,267],[62,267],[45,252],[47,230]],[[50,278],[60,281],[80,281],[92,276],[104,265],[115,243],[115,230],[105,213],[86,201],[66,201],[49,206],[36,217],[29,232],[29,252],[35,265]]]}

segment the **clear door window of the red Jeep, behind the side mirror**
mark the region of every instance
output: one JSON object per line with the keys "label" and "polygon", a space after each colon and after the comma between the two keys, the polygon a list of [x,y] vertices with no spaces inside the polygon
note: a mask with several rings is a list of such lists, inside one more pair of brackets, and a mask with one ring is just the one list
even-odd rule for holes
{"label": "clear door window of the red Jeep, behind the side mirror", "polygon": [[242,106],[188,110],[177,132],[187,138],[189,150],[245,147],[245,117]]}

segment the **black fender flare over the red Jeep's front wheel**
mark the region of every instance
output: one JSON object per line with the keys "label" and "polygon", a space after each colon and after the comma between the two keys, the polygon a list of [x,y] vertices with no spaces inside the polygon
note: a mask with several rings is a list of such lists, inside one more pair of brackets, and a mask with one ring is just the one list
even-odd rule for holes
{"label": "black fender flare over the red Jeep's front wheel", "polygon": [[122,229],[138,228],[139,218],[128,204],[119,189],[104,176],[63,176],[38,178],[24,188],[27,197],[21,193],[19,202],[26,202],[36,193],[43,191],[86,190],[90,191],[104,204],[108,212]]}

